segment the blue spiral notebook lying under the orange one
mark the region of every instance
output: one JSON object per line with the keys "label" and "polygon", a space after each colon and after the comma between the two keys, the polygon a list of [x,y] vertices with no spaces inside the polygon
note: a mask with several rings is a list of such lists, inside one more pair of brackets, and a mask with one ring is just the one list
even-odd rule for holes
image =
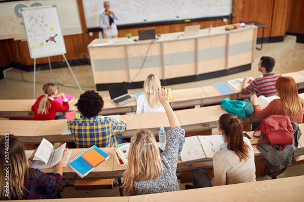
{"label": "blue spiral notebook lying under the orange one", "polygon": [[[95,151],[97,151],[97,153],[99,153],[101,156],[104,157],[106,162],[107,160],[110,159],[110,155],[105,153],[103,150],[101,150],[100,148],[98,148],[96,145],[91,146],[90,148],[88,148],[87,150],[85,150],[82,154],[78,155],[77,157],[75,157],[74,159],[72,159],[70,161],[70,163],[68,164],[81,178],[84,178],[86,175],[88,175],[92,170],[94,170],[95,168],[89,164],[82,156],[84,154],[86,154],[90,149],[94,149]],[[103,163],[104,163],[103,162]],[[103,164],[102,163],[102,164]],[[100,164],[101,165],[101,164]],[[99,166],[100,166],[99,165]],[[98,167],[98,166],[97,166]],[[96,167],[96,168],[97,168]]]}

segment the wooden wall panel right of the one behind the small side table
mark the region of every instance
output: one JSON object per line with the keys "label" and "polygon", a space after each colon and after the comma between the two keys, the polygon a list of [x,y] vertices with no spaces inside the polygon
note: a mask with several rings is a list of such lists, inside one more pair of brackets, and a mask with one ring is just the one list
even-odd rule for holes
{"label": "wooden wall panel right of the one behind the small side table", "polygon": [[292,0],[275,0],[270,35],[283,36],[289,28],[289,16]]}

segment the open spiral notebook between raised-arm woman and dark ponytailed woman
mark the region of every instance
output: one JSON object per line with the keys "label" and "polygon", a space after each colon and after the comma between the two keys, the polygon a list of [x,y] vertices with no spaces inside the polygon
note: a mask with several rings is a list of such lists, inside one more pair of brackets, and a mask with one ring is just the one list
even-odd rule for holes
{"label": "open spiral notebook between raised-arm woman and dark ponytailed woman", "polygon": [[224,140],[221,135],[196,135],[186,137],[180,153],[181,161],[212,158],[222,143],[224,143]]}

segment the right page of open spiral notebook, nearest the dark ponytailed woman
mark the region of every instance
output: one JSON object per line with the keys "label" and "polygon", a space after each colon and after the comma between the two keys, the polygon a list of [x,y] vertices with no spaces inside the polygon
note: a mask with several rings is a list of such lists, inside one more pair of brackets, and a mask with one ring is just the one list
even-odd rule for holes
{"label": "right page of open spiral notebook, nearest the dark ponytailed woman", "polygon": [[212,158],[214,153],[219,150],[220,145],[224,143],[221,135],[199,135],[198,137],[207,158]]}

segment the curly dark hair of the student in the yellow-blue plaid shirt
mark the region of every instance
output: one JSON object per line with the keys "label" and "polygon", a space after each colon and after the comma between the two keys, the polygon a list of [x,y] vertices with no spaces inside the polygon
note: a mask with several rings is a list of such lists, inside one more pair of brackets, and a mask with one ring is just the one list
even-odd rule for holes
{"label": "curly dark hair of the student in the yellow-blue plaid shirt", "polygon": [[87,90],[80,95],[75,104],[79,112],[87,118],[96,117],[103,108],[103,99],[98,92]]}

